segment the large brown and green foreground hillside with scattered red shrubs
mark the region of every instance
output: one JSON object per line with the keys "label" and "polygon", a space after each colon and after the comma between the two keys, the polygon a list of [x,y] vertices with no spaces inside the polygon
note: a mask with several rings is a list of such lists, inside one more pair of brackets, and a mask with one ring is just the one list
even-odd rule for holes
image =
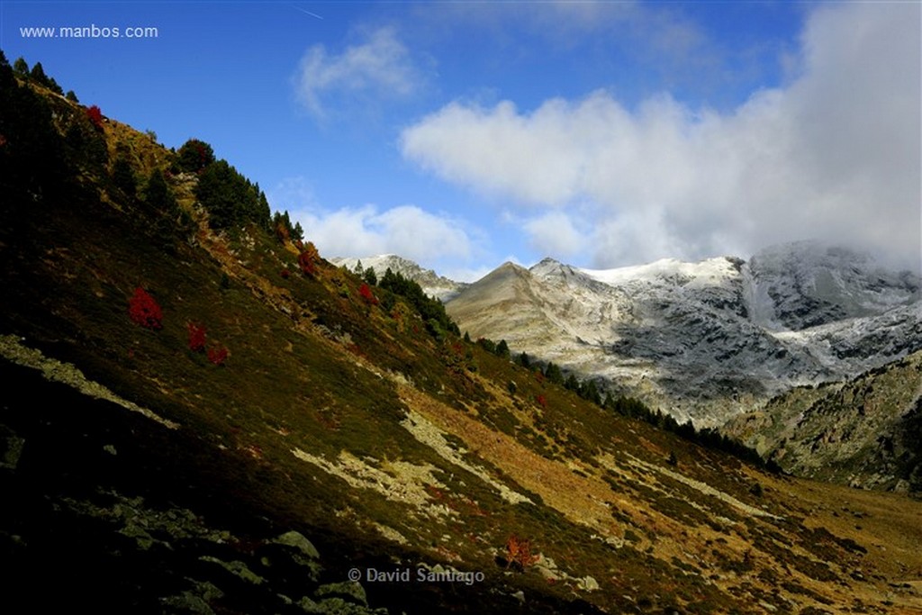
{"label": "large brown and green foreground hillside with scattered red shrubs", "polygon": [[[366,299],[322,259],[305,274],[302,248],[264,225],[217,233],[173,153],[112,119],[88,127],[2,68],[7,599],[922,612],[922,504],[762,473],[465,342],[412,292]],[[18,140],[42,126],[53,174]],[[151,207],[154,171],[178,209]],[[132,319],[138,288],[160,326]]]}

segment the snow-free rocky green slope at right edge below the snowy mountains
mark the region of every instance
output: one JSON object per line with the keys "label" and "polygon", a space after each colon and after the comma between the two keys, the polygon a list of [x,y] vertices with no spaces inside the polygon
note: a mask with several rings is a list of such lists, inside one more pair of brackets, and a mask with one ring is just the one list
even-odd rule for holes
{"label": "snow-free rocky green slope at right edge below the snowy mountains", "polygon": [[848,382],[798,387],[723,430],[798,476],[922,486],[922,352]]}

